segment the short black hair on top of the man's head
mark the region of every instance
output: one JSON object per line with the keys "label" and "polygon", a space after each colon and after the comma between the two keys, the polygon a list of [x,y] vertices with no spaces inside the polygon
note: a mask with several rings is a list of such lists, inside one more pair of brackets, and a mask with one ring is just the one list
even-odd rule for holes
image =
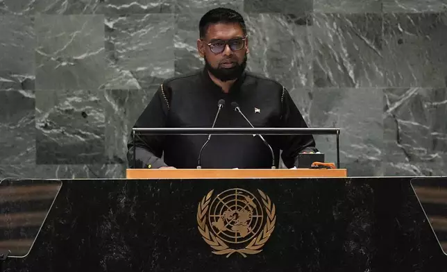
{"label": "short black hair on top of the man's head", "polygon": [[237,23],[241,26],[244,35],[246,35],[246,26],[244,18],[237,11],[230,8],[214,8],[205,13],[199,22],[199,36],[205,37],[206,30],[210,24],[218,23]]}

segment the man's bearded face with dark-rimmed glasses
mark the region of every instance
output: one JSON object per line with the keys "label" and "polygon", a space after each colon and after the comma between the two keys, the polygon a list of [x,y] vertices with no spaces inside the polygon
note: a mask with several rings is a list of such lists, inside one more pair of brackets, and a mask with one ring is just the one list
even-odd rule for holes
{"label": "man's bearded face with dark-rimmed glasses", "polygon": [[197,40],[197,47],[213,76],[228,81],[242,74],[248,53],[248,40],[242,40],[244,38],[244,31],[237,23],[208,26],[204,39]]}

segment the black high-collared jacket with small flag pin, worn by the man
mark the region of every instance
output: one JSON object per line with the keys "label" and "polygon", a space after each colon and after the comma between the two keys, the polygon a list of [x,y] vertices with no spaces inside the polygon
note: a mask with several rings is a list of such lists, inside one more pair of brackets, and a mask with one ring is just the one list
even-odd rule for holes
{"label": "black high-collared jacket with small flag pin, worn by the man", "polygon": [[[275,80],[246,71],[226,94],[211,80],[208,71],[201,69],[165,80],[134,128],[210,128],[219,99],[224,99],[226,105],[219,113],[216,128],[249,127],[233,110],[233,101],[255,127],[307,127],[285,87]],[[136,168],[196,168],[199,151],[207,138],[206,135],[136,135]],[[301,151],[317,151],[312,135],[265,135],[264,138],[273,148],[276,167],[280,150],[288,168],[297,165],[296,158]],[[134,168],[133,152],[130,135],[127,154],[130,168]],[[270,168],[271,153],[253,135],[212,135],[201,162],[203,168]]]}

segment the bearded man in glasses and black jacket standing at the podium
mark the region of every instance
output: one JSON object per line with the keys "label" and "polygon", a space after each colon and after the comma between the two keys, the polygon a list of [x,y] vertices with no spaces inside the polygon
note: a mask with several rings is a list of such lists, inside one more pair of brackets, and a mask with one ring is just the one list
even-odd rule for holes
{"label": "bearded man in glasses and black jacket standing at the podium", "polygon": [[[248,49],[242,16],[228,8],[199,22],[205,67],[165,80],[134,128],[307,128],[289,92],[276,80],[245,71]],[[130,168],[262,169],[297,166],[298,153],[316,152],[312,135],[135,135],[128,141]],[[203,147],[207,139],[208,144]],[[202,151],[202,152],[201,152]],[[200,154],[200,156],[199,156]]]}

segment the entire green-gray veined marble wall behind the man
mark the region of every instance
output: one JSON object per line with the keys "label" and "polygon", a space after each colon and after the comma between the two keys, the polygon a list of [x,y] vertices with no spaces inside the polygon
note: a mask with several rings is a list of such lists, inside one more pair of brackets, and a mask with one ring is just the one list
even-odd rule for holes
{"label": "entire green-gray veined marble wall behind the man", "polygon": [[[447,173],[446,0],[0,0],[0,177],[124,177],[131,126],[203,65],[217,6],[246,19],[248,69],[342,129],[350,176]],[[335,160],[335,137],[317,144]]]}

